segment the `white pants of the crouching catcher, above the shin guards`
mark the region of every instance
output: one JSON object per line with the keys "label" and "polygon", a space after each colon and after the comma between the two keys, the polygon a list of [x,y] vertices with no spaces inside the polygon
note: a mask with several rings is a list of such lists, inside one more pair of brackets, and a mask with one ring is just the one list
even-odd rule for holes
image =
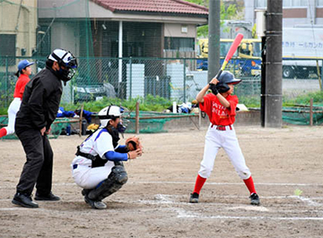
{"label": "white pants of the crouching catcher, above the shin guards", "polygon": [[108,162],[105,166],[89,167],[78,165],[73,169],[72,176],[74,182],[83,189],[94,189],[100,182],[106,180],[111,173],[111,168],[114,166],[113,162]]}

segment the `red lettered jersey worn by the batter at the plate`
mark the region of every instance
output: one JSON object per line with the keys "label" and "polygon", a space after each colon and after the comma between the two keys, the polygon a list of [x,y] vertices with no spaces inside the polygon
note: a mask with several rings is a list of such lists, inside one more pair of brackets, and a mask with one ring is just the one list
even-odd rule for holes
{"label": "red lettered jersey worn by the batter at the plate", "polygon": [[230,103],[228,108],[224,107],[213,93],[205,95],[204,103],[200,103],[199,107],[208,115],[210,123],[230,125],[235,122],[236,107],[239,99],[235,95],[229,95],[226,99]]}

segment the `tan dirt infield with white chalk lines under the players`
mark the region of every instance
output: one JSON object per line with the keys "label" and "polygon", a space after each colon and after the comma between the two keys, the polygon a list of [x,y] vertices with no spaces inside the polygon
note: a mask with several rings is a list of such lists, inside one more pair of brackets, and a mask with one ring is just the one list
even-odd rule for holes
{"label": "tan dirt infield with white chalk lines under the players", "polygon": [[323,127],[236,127],[259,207],[249,205],[223,150],[200,203],[188,203],[205,131],[140,134],[144,156],[125,164],[128,183],[104,200],[106,210],[85,204],[71,177],[85,137],[50,140],[53,192],[62,200],[34,209],[11,203],[25,158],[19,140],[0,140],[0,237],[322,237]]}

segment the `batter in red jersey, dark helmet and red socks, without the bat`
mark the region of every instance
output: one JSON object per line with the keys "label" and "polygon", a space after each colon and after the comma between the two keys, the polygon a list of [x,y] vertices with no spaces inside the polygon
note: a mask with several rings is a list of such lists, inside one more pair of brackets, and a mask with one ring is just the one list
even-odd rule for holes
{"label": "batter in red jersey, dark helmet and red socks, without the bat", "polygon": [[[198,202],[199,193],[213,170],[217,152],[220,148],[223,148],[240,178],[249,189],[251,204],[260,204],[251,173],[246,166],[233,127],[239,100],[237,96],[231,94],[233,93],[233,85],[238,83],[240,83],[240,80],[235,79],[231,72],[224,71],[219,79],[214,78],[196,96],[201,110],[208,115],[210,126],[206,132],[204,157],[197,174],[194,191],[190,194],[190,203]],[[208,89],[212,89],[213,93],[205,96]]]}

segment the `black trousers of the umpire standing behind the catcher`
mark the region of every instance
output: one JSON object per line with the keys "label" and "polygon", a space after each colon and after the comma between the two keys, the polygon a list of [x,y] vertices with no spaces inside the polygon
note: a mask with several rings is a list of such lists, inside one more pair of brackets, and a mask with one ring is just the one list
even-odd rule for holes
{"label": "black trousers of the umpire standing behind the catcher", "polygon": [[17,192],[31,195],[35,186],[39,194],[47,195],[51,191],[53,174],[53,150],[48,136],[42,136],[39,130],[18,128],[16,134],[22,141],[27,161],[17,185]]}

